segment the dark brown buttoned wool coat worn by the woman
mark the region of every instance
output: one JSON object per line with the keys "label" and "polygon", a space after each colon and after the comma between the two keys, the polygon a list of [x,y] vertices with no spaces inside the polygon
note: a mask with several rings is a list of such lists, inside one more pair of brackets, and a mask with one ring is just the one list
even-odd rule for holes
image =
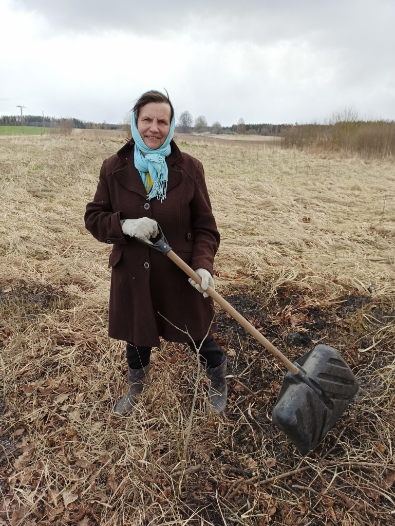
{"label": "dark brown buttoned wool coat worn by the woman", "polygon": [[[190,286],[188,277],[161,252],[125,236],[120,219],[150,217],[162,228],[170,247],[194,270],[212,274],[219,233],[211,212],[204,170],[194,157],[181,153],[171,141],[167,197],[147,200],[140,174],[134,165],[131,141],[106,159],[92,203],[88,203],[85,226],[104,243],[113,243],[109,336],[136,346],[159,346],[159,336],[187,342],[177,327],[188,328],[191,337],[205,337],[214,316],[211,298]],[[217,330],[214,323],[210,334]]]}

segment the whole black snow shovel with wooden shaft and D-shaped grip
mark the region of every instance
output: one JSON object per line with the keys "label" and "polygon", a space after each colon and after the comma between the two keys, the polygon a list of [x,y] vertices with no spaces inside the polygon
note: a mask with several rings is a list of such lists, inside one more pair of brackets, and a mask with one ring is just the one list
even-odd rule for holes
{"label": "whole black snow shovel with wooden shaft and D-shaped grip", "polygon": [[[201,278],[171,250],[159,225],[158,229],[160,234],[155,239],[160,237],[152,245],[136,239],[162,252],[200,285]],[[272,419],[306,455],[318,446],[357,394],[359,386],[353,372],[328,345],[316,345],[292,363],[212,287],[206,292],[288,369]]]}

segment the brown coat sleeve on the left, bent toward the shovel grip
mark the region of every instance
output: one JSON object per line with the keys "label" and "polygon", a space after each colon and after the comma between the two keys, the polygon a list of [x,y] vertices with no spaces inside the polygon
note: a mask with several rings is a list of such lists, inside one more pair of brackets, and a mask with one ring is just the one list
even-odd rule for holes
{"label": "brown coat sleeve on the left, bent toward the shovel grip", "polygon": [[105,160],[100,168],[95,197],[86,205],[85,227],[98,241],[124,245],[127,239],[119,224],[122,218],[122,213],[115,212],[111,204]]}

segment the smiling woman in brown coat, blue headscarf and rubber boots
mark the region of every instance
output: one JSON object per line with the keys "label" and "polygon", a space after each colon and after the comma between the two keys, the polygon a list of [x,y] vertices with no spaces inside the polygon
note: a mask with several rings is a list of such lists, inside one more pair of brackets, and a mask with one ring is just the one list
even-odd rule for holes
{"label": "smiling woman in brown coat, blue headscarf and rubber boots", "polygon": [[[114,408],[120,416],[129,414],[148,383],[150,352],[160,346],[159,337],[191,343],[173,326],[187,328],[199,348],[214,317],[205,290],[214,287],[220,237],[203,167],[178,149],[174,126],[168,96],[154,90],[141,95],[131,116],[133,138],[104,161],[94,200],[86,207],[86,228],[97,240],[114,244],[108,332],[127,342],[129,371],[129,390]],[[201,287],[189,279],[191,289],[170,259],[135,239],[150,242],[158,234],[157,222],[173,250],[202,278]],[[216,328],[213,323],[199,359],[211,380],[210,402],[219,413],[226,407],[226,357],[212,337]]]}

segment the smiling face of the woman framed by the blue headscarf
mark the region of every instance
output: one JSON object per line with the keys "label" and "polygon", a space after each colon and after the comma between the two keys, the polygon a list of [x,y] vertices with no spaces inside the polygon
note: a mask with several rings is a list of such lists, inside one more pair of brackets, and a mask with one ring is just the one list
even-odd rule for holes
{"label": "smiling face of the woman framed by the blue headscarf", "polygon": [[151,150],[160,148],[169,135],[170,105],[166,102],[149,102],[140,108],[137,129],[144,144]]}

